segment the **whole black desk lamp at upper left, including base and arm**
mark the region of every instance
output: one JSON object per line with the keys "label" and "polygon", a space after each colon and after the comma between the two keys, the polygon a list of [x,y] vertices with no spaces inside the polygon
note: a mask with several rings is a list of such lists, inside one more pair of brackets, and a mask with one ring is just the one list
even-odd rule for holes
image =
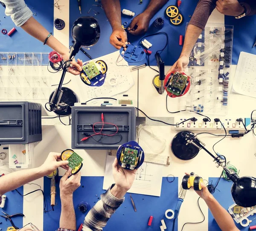
{"label": "whole black desk lamp at upper left, including base and arm", "polygon": [[81,46],[93,46],[98,42],[100,36],[99,23],[94,17],[79,17],[73,23],[71,34],[75,42],[70,46],[69,60],[65,61],[62,66],[63,72],[58,88],[50,95],[50,109],[46,107],[48,111],[53,111],[58,115],[70,115],[71,107],[76,103],[75,92],[66,87],[62,89],[61,86],[67,69],[72,66],[70,61],[79,52]]}

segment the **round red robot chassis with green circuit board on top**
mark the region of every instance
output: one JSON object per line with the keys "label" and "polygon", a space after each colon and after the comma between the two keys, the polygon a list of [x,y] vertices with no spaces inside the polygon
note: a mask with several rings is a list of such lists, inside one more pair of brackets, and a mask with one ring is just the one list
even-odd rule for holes
{"label": "round red robot chassis with green circuit board on top", "polygon": [[186,86],[187,86],[188,77],[179,72],[175,72],[170,75],[167,83],[166,89],[168,92],[171,92],[173,95],[183,95]]}

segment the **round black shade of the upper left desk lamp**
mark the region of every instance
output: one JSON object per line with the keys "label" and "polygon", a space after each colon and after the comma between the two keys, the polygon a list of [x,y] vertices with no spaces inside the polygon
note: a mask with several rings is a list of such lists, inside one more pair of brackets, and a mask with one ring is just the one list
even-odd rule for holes
{"label": "round black shade of the upper left desk lamp", "polygon": [[71,34],[80,46],[93,46],[99,41],[99,23],[94,17],[79,17],[73,23]]}

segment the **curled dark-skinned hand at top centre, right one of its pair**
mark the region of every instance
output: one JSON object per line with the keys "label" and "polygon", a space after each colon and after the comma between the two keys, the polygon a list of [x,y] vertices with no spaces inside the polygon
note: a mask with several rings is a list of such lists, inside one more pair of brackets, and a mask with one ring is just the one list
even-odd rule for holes
{"label": "curled dark-skinned hand at top centre, right one of its pair", "polygon": [[145,12],[137,15],[128,26],[128,32],[132,35],[140,35],[147,32],[150,19],[150,16]]}

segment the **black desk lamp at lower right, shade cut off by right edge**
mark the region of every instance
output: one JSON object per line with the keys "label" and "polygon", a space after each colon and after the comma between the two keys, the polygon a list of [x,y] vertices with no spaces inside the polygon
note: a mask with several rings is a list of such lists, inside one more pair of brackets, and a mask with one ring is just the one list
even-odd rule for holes
{"label": "black desk lamp at lower right, shade cut off by right edge", "polygon": [[[173,141],[175,141],[176,137]],[[191,132],[180,132],[179,139],[180,137],[183,137],[183,140],[181,141],[183,143],[182,145],[194,145],[198,151],[201,149],[205,150],[217,163],[217,167],[223,167],[227,177],[233,181],[231,194],[237,205],[242,207],[252,207],[256,205],[256,178],[252,176],[239,177],[236,173],[225,166],[225,161],[222,159],[223,156],[216,157],[204,147],[205,144],[198,139],[197,134]]]}

